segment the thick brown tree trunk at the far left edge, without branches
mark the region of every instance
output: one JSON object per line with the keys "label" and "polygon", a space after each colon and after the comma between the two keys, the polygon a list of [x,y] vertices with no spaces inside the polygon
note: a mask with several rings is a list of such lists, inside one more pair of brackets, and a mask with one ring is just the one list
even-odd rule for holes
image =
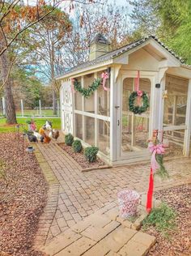
{"label": "thick brown tree trunk at the far left edge, without branches", "polygon": [[6,81],[3,87],[5,104],[6,104],[6,122],[8,124],[15,124],[17,121],[16,121],[16,113],[15,113],[15,104],[14,104],[13,93],[12,93],[13,81],[9,77],[10,62],[9,62],[9,58],[7,56],[6,51],[2,53],[2,55],[0,56],[0,65],[1,65],[1,72],[2,72],[2,83]]}

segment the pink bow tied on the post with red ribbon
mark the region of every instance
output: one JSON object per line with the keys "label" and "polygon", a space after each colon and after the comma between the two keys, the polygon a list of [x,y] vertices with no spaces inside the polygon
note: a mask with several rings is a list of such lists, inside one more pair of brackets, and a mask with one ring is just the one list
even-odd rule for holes
{"label": "pink bow tied on the post with red ribbon", "polygon": [[153,173],[155,173],[155,170],[159,169],[159,164],[156,161],[156,154],[158,154],[158,155],[164,154],[163,144],[155,145],[153,143],[149,143],[148,149],[152,153],[152,155],[151,155],[151,169],[153,170]]}

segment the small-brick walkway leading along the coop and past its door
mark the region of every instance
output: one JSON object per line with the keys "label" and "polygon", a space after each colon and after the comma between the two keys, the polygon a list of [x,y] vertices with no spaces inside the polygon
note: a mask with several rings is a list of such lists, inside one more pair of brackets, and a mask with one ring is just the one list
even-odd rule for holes
{"label": "small-brick walkway leading along the coop and past its door", "polygon": [[[41,216],[41,230],[37,234],[38,237],[46,237],[45,234],[49,229],[46,241],[57,237],[96,210],[116,201],[118,191],[134,189],[138,192],[146,192],[147,190],[149,164],[82,173],[79,164],[57,143],[47,145],[39,143],[38,147],[48,163],[46,163],[47,168],[50,167],[52,176],[55,175],[57,178],[57,184],[54,184],[56,188],[53,187],[53,198],[50,199],[49,207],[45,208],[45,215]],[[155,177],[155,190],[190,180],[191,159],[172,160],[165,162],[165,165],[171,177],[167,181]],[[49,178],[54,179],[51,175]],[[55,211],[51,210],[51,206],[55,207]],[[43,223],[47,224],[46,227],[43,227]]]}

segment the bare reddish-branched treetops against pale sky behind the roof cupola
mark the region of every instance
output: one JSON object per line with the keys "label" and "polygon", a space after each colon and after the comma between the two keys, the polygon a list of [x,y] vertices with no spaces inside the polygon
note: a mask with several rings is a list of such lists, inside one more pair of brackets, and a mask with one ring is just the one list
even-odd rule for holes
{"label": "bare reddish-branched treetops against pale sky behind the roof cupola", "polygon": [[76,66],[87,61],[88,49],[97,33],[103,33],[116,49],[129,35],[126,6],[100,0],[94,6],[78,6],[72,16],[73,30],[66,35],[64,46],[65,66]]}

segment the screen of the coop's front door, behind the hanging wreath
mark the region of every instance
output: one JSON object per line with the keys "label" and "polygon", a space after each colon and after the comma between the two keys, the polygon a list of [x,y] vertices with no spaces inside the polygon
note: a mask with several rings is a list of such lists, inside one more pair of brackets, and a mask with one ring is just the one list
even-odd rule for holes
{"label": "screen of the coop's front door, behind the hanging wreath", "polygon": [[[150,109],[145,113],[134,114],[129,111],[129,96],[134,91],[134,78],[125,78],[121,92],[121,156],[132,151],[143,151],[149,138]],[[151,96],[151,80],[142,78],[139,90]],[[138,102],[135,102],[138,104]]]}

